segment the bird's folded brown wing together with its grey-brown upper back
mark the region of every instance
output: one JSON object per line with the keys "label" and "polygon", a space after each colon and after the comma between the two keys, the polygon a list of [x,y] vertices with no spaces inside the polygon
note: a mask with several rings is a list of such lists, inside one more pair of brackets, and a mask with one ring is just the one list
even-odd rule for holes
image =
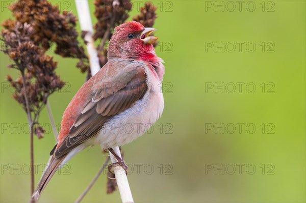
{"label": "bird's folded brown wing together with its grey-brown upper back", "polygon": [[[106,68],[103,72],[100,70],[104,73],[103,75],[99,71],[98,75],[91,78],[94,80],[91,96],[75,119],[68,136],[60,143],[60,146],[57,146],[54,152],[55,157],[67,154],[96,135],[110,118],[133,106],[146,93],[144,65],[130,63],[125,67],[115,68],[113,65],[108,64],[103,67]],[[120,63],[117,65],[123,66]],[[105,75],[108,77],[105,78]]]}

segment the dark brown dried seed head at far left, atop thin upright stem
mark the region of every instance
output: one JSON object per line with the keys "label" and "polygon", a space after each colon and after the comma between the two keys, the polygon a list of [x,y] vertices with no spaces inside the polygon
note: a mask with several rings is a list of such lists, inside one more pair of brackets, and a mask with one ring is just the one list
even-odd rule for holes
{"label": "dark brown dried seed head at far left, atop thin upright stem", "polygon": [[[16,80],[7,76],[7,80],[15,89],[13,98],[26,109],[24,97],[27,96],[30,111],[38,113],[39,108],[46,102],[46,98],[64,85],[55,73],[57,63],[53,61],[52,56],[44,54],[39,44],[31,40],[34,32],[31,24],[8,20],[3,25],[5,28],[1,36],[5,48],[2,51],[14,61],[14,64],[9,67],[21,72]],[[24,74],[24,82],[22,74]]]}

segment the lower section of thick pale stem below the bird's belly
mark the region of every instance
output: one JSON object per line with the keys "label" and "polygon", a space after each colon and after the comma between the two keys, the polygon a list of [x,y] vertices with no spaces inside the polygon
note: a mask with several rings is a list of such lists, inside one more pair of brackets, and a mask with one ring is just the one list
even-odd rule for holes
{"label": "lower section of thick pale stem below the bird's belly", "polygon": [[[121,158],[119,147],[114,147],[113,150]],[[112,163],[118,162],[118,160],[112,153],[110,153],[110,156]],[[127,181],[127,177],[122,166],[115,166],[114,172],[122,202],[134,202],[129,181]]]}

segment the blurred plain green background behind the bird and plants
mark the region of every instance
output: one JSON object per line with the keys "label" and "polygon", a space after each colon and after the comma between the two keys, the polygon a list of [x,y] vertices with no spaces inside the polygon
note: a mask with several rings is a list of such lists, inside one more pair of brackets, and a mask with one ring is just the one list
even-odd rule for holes
{"label": "blurred plain green background behind the bird and plants", "polygon": [[[1,21],[11,17],[5,2]],[[77,15],[73,1],[51,2]],[[134,2],[131,16],[144,2]],[[123,147],[134,169],[128,176],[134,200],[305,202],[305,1],[242,1],[240,8],[236,1],[152,3],[159,7],[156,52],[166,67],[165,110],[151,133]],[[68,83],[49,99],[58,124],[85,75],[77,60],[53,51],[57,73]],[[6,75],[17,76],[9,63],[1,53],[0,200],[28,202],[27,118],[7,88]],[[36,184],[55,144],[46,109],[40,123],[47,133],[35,137]],[[81,152],[54,176],[40,202],[73,202],[105,159],[99,147]],[[119,202],[118,191],[106,194],[106,180],[101,176],[83,202]]]}

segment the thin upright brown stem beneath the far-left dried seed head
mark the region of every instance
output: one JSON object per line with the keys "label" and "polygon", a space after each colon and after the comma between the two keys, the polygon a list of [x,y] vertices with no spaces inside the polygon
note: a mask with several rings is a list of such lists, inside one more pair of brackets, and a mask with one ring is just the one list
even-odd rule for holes
{"label": "thin upright brown stem beneath the far-left dried seed head", "polygon": [[[25,77],[24,72],[21,71],[22,83],[23,83],[23,96],[25,100],[25,106],[28,116],[29,130],[30,130],[30,165],[31,165],[31,196],[34,193],[34,145],[33,145],[33,121],[31,117],[30,104],[27,97],[27,91],[25,90]],[[31,198],[31,202],[35,202],[34,198]]]}

